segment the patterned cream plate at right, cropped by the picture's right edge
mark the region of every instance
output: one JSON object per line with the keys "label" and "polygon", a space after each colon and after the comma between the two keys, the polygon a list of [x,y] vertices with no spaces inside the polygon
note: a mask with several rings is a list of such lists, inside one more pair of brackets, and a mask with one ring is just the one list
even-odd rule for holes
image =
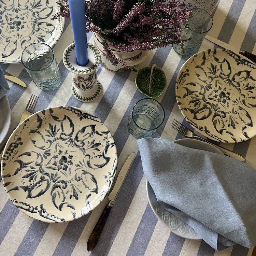
{"label": "patterned cream plate at right, cropped by the picture's right edge", "polygon": [[225,49],[190,57],[176,81],[176,100],[188,123],[220,142],[246,141],[256,134],[256,65]]}

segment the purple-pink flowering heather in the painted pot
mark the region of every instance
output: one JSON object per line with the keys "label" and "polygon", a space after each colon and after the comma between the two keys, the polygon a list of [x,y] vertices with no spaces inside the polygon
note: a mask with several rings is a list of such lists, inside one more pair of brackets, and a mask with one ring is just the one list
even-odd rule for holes
{"label": "purple-pink flowering heather in the painted pot", "polygon": [[[58,2],[60,16],[70,18],[68,0]],[[191,10],[179,0],[85,0],[87,32],[103,39],[105,54],[116,59],[108,42],[120,52],[148,51],[174,43],[183,43],[182,28],[187,28]]]}

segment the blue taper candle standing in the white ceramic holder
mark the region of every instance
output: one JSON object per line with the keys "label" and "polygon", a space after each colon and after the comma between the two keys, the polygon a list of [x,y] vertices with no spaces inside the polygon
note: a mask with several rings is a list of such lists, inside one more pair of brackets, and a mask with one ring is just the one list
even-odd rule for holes
{"label": "blue taper candle standing in the white ceramic holder", "polygon": [[68,0],[68,3],[75,43],[76,62],[80,66],[86,66],[89,60],[84,0]]}

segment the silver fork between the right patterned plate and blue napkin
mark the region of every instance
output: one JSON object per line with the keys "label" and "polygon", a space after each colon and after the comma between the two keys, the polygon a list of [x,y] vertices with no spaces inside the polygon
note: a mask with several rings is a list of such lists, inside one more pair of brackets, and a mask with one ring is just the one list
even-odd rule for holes
{"label": "silver fork between the right patterned plate and blue napkin", "polygon": [[208,140],[205,140],[204,138],[201,138],[199,136],[197,136],[197,134],[195,134],[193,131],[191,131],[189,128],[187,128],[186,126],[184,126],[183,124],[181,124],[180,122],[178,122],[177,120],[174,119],[173,123],[172,123],[172,127],[178,131],[179,133],[183,134],[184,136],[186,137],[189,137],[189,138],[198,138],[202,141],[205,141],[213,146],[215,146],[216,148],[218,148],[221,152],[223,152],[225,155],[227,156],[231,156],[237,160],[240,160],[242,162],[245,162],[245,158],[234,153],[233,151],[230,151],[228,150],[227,148],[224,148],[224,147],[221,147],[221,146],[218,146],[218,145],[215,145],[211,142],[209,142]]}

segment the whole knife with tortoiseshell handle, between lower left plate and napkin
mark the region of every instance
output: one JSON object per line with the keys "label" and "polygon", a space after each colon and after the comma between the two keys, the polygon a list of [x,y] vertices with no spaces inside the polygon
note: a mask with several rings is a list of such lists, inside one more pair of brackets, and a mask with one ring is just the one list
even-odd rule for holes
{"label": "whole knife with tortoiseshell handle, between lower left plate and napkin", "polygon": [[95,248],[95,246],[97,245],[101,232],[104,228],[104,225],[106,223],[106,220],[109,216],[110,210],[112,208],[112,205],[118,195],[118,192],[120,190],[120,188],[122,187],[125,177],[131,167],[131,164],[133,162],[133,159],[135,157],[135,153],[131,153],[130,156],[127,158],[127,160],[125,161],[122,169],[119,171],[119,174],[117,176],[115,185],[113,187],[113,189],[111,190],[111,192],[108,195],[109,198],[109,202],[106,205],[105,209],[103,210],[103,212],[100,215],[100,218],[98,220],[98,222],[96,223],[93,231],[90,234],[90,237],[88,239],[87,242],[87,251],[90,252],[91,250],[93,250]]}

